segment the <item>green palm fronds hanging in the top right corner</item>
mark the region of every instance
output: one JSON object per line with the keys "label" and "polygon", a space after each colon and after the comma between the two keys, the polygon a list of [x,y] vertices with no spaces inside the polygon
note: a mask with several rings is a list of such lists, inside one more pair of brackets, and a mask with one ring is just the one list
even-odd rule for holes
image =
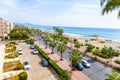
{"label": "green palm fronds hanging in the top right corner", "polygon": [[120,0],[101,0],[101,6],[103,6],[103,15],[118,9],[118,17],[120,17]]}

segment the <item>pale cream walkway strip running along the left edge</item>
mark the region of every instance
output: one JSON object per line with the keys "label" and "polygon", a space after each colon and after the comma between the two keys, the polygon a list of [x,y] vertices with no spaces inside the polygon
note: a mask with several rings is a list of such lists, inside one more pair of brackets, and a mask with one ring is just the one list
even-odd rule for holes
{"label": "pale cream walkway strip running along the left edge", "polygon": [[0,45],[0,80],[1,76],[2,76],[2,72],[3,72],[3,63],[4,63],[4,49],[5,49],[5,45]]}

